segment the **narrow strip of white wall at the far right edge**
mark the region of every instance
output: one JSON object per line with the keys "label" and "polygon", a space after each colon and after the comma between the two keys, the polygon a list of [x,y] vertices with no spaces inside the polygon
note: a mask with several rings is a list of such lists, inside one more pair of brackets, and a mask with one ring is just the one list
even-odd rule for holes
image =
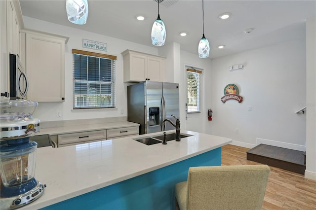
{"label": "narrow strip of white wall at the far right edge", "polygon": [[316,17],[306,22],[306,171],[316,180]]}

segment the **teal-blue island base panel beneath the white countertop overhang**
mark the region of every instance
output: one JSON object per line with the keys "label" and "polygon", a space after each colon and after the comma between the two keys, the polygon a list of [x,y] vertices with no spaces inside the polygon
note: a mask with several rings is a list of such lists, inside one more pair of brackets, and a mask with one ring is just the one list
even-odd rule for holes
{"label": "teal-blue island base panel beneath the white countertop overhang", "polygon": [[174,210],[174,186],[187,180],[189,167],[220,165],[221,147],[43,210]]}

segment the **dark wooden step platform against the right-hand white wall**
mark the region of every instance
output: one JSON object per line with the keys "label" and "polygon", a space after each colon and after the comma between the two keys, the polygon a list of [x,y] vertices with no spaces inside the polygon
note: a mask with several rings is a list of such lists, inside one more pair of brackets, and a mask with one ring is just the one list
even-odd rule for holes
{"label": "dark wooden step platform against the right-hand white wall", "polygon": [[305,152],[259,144],[247,152],[247,160],[304,175]]}

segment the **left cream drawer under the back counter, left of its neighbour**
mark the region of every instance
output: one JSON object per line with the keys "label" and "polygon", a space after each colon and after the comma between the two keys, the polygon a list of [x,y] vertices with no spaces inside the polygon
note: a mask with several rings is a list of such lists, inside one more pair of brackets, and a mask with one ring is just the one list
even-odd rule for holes
{"label": "left cream drawer under the back counter, left of its neighbour", "polygon": [[106,130],[99,131],[87,131],[71,134],[61,134],[58,135],[58,145],[68,144],[68,143],[78,143],[91,140],[106,140],[107,138]]}

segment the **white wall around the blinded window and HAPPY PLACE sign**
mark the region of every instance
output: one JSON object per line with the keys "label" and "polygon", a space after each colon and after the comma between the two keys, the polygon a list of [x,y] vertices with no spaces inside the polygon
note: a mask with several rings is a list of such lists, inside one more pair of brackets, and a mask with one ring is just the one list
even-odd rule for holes
{"label": "white wall around the blinded window and HAPPY PLACE sign", "polygon": [[[70,27],[65,27],[38,19],[23,17],[24,26],[26,29],[64,35],[69,37],[66,44],[65,52],[65,102],[63,103],[39,103],[39,107],[33,114],[34,117],[41,121],[56,121],[56,120],[73,120],[73,119],[92,119],[104,117],[121,117],[127,116],[127,84],[123,83],[123,59],[120,54],[126,49],[141,51],[144,53],[159,55],[158,48],[149,47],[105,35],[99,35],[82,31]],[[82,38],[94,41],[104,42],[108,44],[108,51],[97,51],[82,47]],[[150,38],[150,35],[149,35]],[[94,51],[117,56],[116,63],[116,94],[117,108],[102,109],[102,110],[72,110],[73,109],[73,57],[72,49],[80,49],[86,51]],[[164,55],[162,55],[164,56]],[[56,117],[55,111],[61,110],[62,117]],[[120,114],[120,111],[123,114]]]}

